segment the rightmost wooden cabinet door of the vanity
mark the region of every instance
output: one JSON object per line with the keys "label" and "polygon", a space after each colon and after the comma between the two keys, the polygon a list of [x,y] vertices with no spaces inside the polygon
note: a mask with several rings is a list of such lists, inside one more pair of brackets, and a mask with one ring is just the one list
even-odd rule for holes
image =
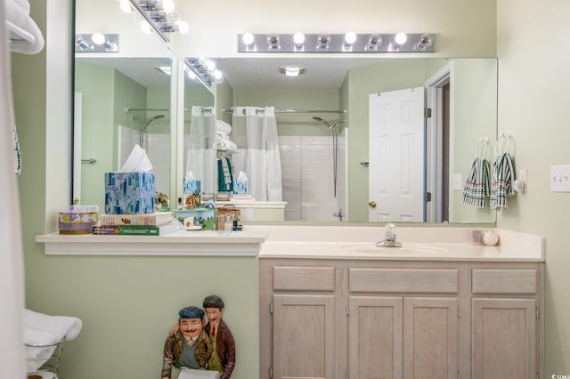
{"label": "rightmost wooden cabinet door of the vanity", "polygon": [[536,377],[534,299],[473,299],[473,378]]}

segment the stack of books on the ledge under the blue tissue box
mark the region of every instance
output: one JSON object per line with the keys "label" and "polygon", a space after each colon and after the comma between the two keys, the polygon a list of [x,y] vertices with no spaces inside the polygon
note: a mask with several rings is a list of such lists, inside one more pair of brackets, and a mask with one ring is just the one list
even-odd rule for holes
{"label": "stack of books on the ledge under the blue tissue box", "polygon": [[102,214],[93,234],[123,236],[162,236],[178,230],[171,212],[151,214]]}

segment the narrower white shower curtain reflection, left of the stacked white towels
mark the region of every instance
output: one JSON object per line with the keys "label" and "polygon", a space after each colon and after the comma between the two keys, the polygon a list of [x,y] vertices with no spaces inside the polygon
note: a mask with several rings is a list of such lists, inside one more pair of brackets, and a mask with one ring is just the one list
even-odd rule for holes
{"label": "narrower white shower curtain reflection, left of the stacked white towels", "polygon": [[186,170],[201,181],[201,191],[216,193],[216,110],[193,106],[190,133],[184,133],[184,147],[188,149]]}

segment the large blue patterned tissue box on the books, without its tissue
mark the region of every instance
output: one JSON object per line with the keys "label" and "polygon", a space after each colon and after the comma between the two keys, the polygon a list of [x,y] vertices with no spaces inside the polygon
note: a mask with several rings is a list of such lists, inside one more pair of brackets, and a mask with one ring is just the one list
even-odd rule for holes
{"label": "large blue patterned tissue box on the books, without its tissue", "polygon": [[151,214],[154,181],[154,173],[105,173],[105,213]]}

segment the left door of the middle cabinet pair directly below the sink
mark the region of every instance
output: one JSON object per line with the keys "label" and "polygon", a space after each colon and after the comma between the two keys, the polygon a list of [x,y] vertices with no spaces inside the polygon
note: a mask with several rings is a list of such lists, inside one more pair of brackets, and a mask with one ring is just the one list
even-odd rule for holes
{"label": "left door of the middle cabinet pair directly below the sink", "polygon": [[402,378],[402,297],[351,296],[349,369],[354,379]]}

